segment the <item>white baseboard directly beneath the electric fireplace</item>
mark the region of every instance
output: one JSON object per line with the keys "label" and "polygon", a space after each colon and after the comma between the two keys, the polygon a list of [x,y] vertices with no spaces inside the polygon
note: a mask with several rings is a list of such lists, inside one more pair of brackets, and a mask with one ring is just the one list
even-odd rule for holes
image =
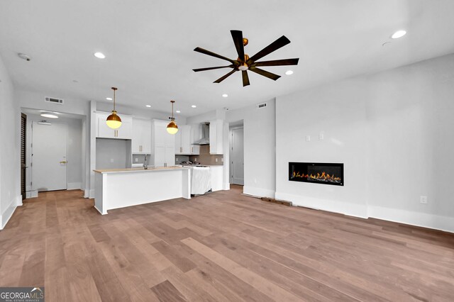
{"label": "white baseboard directly beneath the electric fireplace", "polygon": [[316,210],[341,213],[348,216],[367,218],[367,206],[358,203],[345,203],[343,201],[333,201],[329,199],[313,198],[276,192],[276,199],[292,201],[293,206],[304,206],[304,208],[314,208]]}

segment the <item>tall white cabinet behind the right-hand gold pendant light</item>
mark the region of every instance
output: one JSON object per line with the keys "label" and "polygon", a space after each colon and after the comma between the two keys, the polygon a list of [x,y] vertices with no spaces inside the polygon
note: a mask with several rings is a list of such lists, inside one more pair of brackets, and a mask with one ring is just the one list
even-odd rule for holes
{"label": "tall white cabinet behind the right-hand gold pendant light", "polygon": [[155,167],[175,165],[175,135],[167,132],[168,123],[153,120],[151,124],[151,160]]}

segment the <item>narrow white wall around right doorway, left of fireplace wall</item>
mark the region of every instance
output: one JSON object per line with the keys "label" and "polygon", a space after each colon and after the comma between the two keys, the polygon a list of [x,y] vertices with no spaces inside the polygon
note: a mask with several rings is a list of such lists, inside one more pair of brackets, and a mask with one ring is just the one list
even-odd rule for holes
{"label": "narrow white wall around right doorway, left of fireplace wall", "polygon": [[[275,197],[276,191],[276,102],[265,108],[255,105],[226,111],[226,122],[243,120],[245,194]],[[227,140],[228,144],[228,140]],[[225,155],[224,155],[225,158]],[[227,165],[228,167],[228,165]]]}

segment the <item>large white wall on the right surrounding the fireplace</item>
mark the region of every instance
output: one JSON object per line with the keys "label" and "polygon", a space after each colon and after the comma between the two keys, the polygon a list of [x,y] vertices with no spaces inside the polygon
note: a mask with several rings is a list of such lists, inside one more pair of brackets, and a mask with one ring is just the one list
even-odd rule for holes
{"label": "large white wall on the right surrounding the fireplace", "polygon": [[[453,74],[448,55],[279,97],[276,197],[454,231]],[[345,186],[289,181],[292,161],[343,162]]]}

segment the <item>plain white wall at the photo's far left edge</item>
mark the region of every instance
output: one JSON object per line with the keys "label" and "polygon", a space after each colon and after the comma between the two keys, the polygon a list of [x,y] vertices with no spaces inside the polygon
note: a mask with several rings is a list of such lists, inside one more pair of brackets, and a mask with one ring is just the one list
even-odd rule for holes
{"label": "plain white wall at the photo's far left edge", "polygon": [[3,229],[21,197],[21,111],[13,83],[0,57],[0,229]]}

